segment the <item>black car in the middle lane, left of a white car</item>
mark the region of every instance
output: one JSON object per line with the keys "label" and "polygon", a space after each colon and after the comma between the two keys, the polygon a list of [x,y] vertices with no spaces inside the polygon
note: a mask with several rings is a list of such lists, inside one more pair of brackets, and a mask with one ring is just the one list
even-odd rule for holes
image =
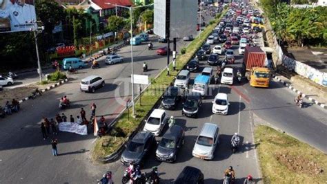
{"label": "black car in the middle lane, left of a white car", "polygon": [[190,118],[197,118],[199,113],[199,107],[202,105],[201,93],[192,92],[188,94],[184,102],[183,110],[181,111],[181,115],[187,116]]}

